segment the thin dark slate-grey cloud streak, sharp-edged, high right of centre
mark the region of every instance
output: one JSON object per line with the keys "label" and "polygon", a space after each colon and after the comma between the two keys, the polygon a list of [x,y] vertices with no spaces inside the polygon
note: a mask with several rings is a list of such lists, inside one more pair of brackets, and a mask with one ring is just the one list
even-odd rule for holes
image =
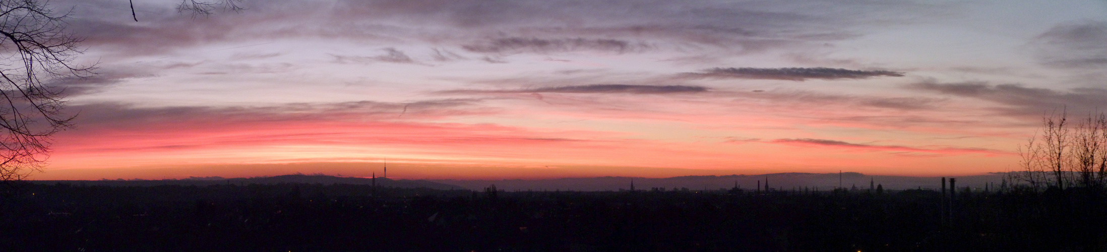
{"label": "thin dark slate-grey cloud streak, sharp-edged, high right of centre", "polygon": [[696,73],[684,73],[684,77],[694,78],[746,78],[746,80],[783,80],[803,82],[807,80],[859,80],[879,76],[902,77],[902,72],[883,70],[845,70],[829,67],[715,67]]}

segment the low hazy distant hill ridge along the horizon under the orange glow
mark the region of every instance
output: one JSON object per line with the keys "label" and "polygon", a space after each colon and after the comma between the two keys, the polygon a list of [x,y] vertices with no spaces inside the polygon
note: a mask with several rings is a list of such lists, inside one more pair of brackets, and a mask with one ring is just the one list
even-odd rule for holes
{"label": "low hazy distant hill ridge along the horizon under the orange glow", "polygon": [[[1002,172],[960,176],[959,187],[983,188],[989,182],[1000,185]],[[728,189],[737,183],[738,187],[753,190],[758,185],[764,187],[768,180],[769,187],[778,190],[796,189],[819,189],[830,190],[840,185],[845,188],[858,187],[869,188],[869,181],[880,183],[886,189],[913,189],[941,187],[941,182],[935,177],[906,177],[906,176],[869,176],[860,172],[834,172],[834,174],[811,174],[811,172],[779,172],[764,175],[706,175],[706,176],[680,176],[670,178],[642,178],[642,177],[591,177],[591,178],[552,178],[552,179],[499,179],[499,180],[406,180],[376,178],[376,185],[381,187],[396,188],[430,188],[438,190],[484,190],[484,188],[495,185],[503,190],[576,190],[576,191],[615,191],[629,189],[630,182],[634,181],[635,189],[650,190],[652,188],[677,189]],[[166,185],[182,186],[209,186],[209,185],[250,185],[250,183],[322,183],[322,185],[371,185],[370,178],[338,177],[328,175],[281,175],[272,177],[254,178],[223,178],[223,177],[189,177],[187,179],[163,179],[163,180],[30,180],[30,182],[53,185],[86,185],[86,186],[113,186],[113,187],[152,187]]]}

